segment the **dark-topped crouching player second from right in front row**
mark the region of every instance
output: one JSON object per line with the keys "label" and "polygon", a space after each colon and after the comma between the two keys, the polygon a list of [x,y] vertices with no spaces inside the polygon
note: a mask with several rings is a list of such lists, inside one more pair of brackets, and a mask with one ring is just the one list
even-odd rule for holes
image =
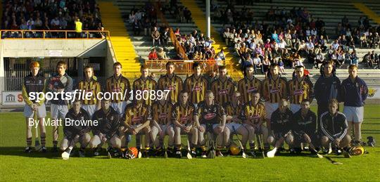
{"label": "dark-topped crouching player second from right in front row", "polygon": [[300,110],[293,114],[293,122],[291,126],[291,135],[294,136],[293,145],[300,143],[308,143],[310,152],[317,154],[315,145],[312,142],[317,141],[317,115],[310,110],[310,101],[302,100]]}

